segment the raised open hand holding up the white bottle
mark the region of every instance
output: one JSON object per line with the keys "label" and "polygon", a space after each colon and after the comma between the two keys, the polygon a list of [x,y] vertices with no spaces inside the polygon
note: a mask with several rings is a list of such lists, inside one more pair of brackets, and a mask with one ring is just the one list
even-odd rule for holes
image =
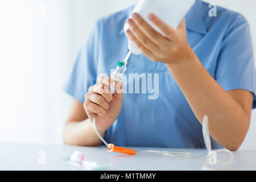
{"label": "raised open hand holding up the white bottle", "polygon": [[170,27],[154,14],[148,14],[148,19],[165,36],[152,28],[137,13],[134,13],[132,18],[127,20],[133,32],[131,30],[126,32],[148,59],[171,64],[175,61],[187,60],[191,57],[193,51],[187,42],[185,19],[181,21],[177,29]]}

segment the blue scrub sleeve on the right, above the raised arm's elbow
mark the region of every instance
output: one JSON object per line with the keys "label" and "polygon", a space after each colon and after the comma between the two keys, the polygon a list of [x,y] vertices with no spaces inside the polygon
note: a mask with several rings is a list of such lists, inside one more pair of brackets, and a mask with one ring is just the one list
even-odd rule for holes
{"label": "blue scrub sleeve on the right, above the raised arm's elbow", "polygon": [[254,94],[253,109],[256,107],[256,75],[250,26],[242,15],[230,24],[218,56],[216,81],[226,91],[249,90]]}

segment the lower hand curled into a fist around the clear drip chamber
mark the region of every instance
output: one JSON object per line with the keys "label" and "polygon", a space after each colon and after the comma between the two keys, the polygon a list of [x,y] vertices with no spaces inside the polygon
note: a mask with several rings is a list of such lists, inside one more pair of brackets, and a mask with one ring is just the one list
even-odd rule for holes
{"label": "lower hand curled into a fist around the clear drip chamber", "polygon": [[[115,93],[110,93],[110,86]],[[96,119],[96,127],[104,133],[117,119],[122,110],[123,82],[102,76],[97,84],[90,86],[85,94],[84,109],[90,121]]]}

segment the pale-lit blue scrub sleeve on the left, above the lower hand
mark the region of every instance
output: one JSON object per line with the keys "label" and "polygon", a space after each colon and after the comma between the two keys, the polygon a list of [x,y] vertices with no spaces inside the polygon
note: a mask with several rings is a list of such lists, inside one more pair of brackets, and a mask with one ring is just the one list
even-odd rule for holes
{"label": "pale-lit blue scrub sleeve on the left, above the lower hand", "polygon": [[88,38],[80,49],[71,75],[63,87],[64,92],[82,103],[85,101],[84,96],[89,87],[96,83],[97,42],[98,23],[94,24]]}

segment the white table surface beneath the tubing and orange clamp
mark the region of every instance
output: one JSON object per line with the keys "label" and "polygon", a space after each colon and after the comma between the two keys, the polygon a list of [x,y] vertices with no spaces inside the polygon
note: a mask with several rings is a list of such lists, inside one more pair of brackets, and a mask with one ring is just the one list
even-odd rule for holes
{"label": "white table surface beneath the tubing and orange clamp", "polygon": [[[174,148],[145,148],[131,147],[134,150],[171,150],[191,151],[192,155],[207,154],[206,150],[174,149]],[[65,163],[63,158],[74,150],[85,154],[85,159],[101,164],[112,164],[107,170],[201,170],[205,159],[183,160],[159,154],[124,155],[107,152],[106,146],[80,147],[69,145],[49,144],[6,144],[0,143],[0,170],[76,170],[77,168]],[[46,164],[39,165],[39,151],[46,152]],[[233,152],[234,159],[224,170],[256,170],[256,151],[238,150]],[[217,154],[218,159],[229,159],[229,155]],[[216,168],[211,168],[216,169]]]}

